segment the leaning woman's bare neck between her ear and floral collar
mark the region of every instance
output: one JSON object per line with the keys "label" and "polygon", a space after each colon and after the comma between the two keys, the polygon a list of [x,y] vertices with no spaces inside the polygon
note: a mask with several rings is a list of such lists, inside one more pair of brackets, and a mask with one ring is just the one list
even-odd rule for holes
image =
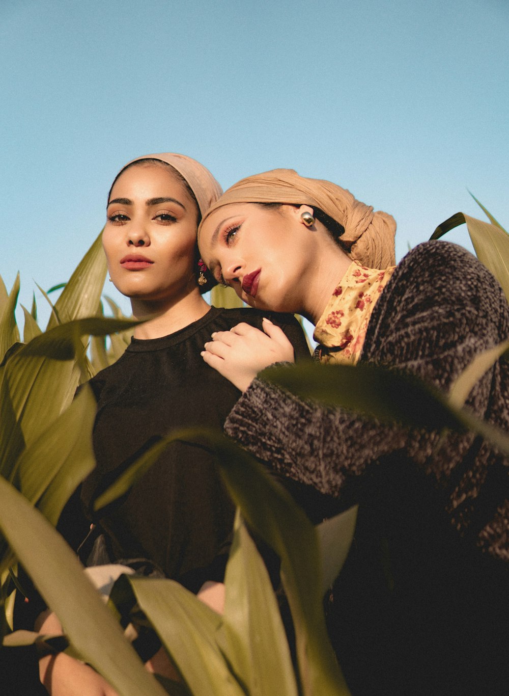
{"label": "leaning woman's bare neck between her ear and floral collar", "polygon": [[310,282],[304,299],[302,315],[316,324],[327,306],[332,293],[352,260],[341,247],[330,239],[330,244],[324,244],[312,267],[309,269]]}

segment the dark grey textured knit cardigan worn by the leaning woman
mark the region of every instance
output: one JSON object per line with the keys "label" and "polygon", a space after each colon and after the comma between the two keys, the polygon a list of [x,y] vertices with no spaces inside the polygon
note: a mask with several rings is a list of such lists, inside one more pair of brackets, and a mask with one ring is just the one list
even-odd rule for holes
{"label": "dark grey textured knit cardigan worn by the leaning woman", "polygon": [[[408,370],[447,392],[474,356],[508,336],[508,303],[487,269],[460,246],[425,242],[398,264],[378,299],[360,360]],[[509,361],[486,372],[466,405],[509,430]],[[509,561],[509,460],[473,434],[449,434],[437,447],[437,432],[382,426],[302,402],[260,379],[234,406],[225,432],[345,507],[362,502],[366,473],[377,462],[403,452],[441,496],[461,537]]]}

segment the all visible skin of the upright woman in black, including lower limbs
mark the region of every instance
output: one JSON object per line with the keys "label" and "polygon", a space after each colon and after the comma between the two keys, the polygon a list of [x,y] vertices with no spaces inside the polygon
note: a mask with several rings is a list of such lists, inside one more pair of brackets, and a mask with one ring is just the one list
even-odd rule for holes
{"label": "all visible skin of the upright woman in black, including lower limbs", "polygon": [[[197,206],[168,168],[154,162],[124,171],[111,190],[106,215],[102,243],[111,280],[131,300],[136,319],[152,317],[136,326],[136,338],[161,338],[209,311],[195,276]],[[223,612],[223,583],[204,583],[197,596]],[[35,630],[63,634],[49,610]],[[179,679],[163,648],[145,666]],[[41,658],[39,667],[40,681],[52,696],[118,696],[92,667],[64,653]]]}

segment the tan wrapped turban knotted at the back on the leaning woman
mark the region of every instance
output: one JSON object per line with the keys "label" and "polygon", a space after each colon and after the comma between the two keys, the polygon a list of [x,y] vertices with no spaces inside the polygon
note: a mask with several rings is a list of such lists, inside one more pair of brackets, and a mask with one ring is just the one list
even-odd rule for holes
{"label": "tan wrapped turban knotted at the back on the leaning woman", "polygon": [[296,203],[318,207],[345,228],[339,242],[350,258],[369,268],[382,269],[396,263],[394,218],[380,210],[373,211],[371,205],[364,205],[350,191],[330,181],[307,179],[293,169],[255,174],[229,187],[203,219],[229,203]]}

